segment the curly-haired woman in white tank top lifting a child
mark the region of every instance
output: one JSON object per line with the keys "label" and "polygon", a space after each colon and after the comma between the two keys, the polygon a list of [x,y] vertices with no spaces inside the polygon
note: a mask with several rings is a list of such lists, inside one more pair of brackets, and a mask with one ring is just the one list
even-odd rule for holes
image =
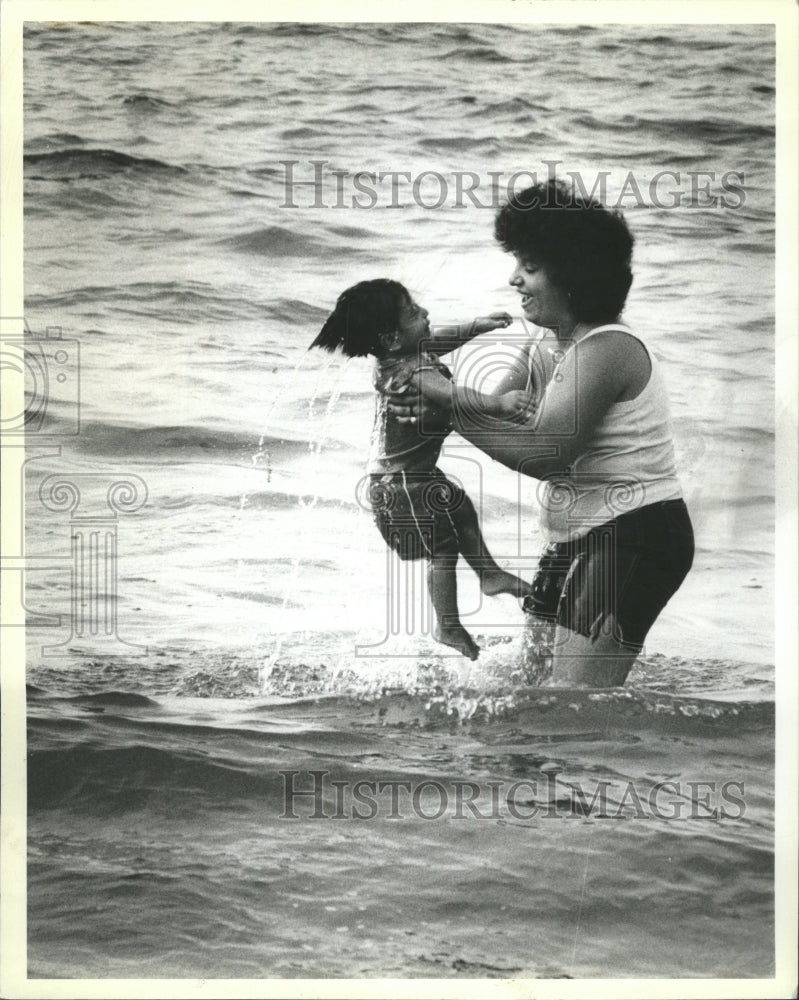
{"label": "curly-haired woman in white tank top lifting a child", "polygon": [[535,404],[498,420],[479,394],[423,372],[421,397],[392,406],[406,420],[447,409],[487,455],[542,480],[547,546],[525,610],[556,622],[553,683],[623,684],[694,552],[662,376],[619,322],[633,238],[619,213],[554,181],[503,206],[495,236],[516,259],[525,317],[550,331],[543,363],[523,359],[497,392],[535,389]]}

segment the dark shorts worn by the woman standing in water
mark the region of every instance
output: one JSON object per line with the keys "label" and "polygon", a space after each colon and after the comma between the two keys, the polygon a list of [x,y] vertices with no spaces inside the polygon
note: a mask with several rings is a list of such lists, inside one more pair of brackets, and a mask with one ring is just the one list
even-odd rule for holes
{"label": "dark shorts worn by the woman standing in water", "polygon": [[524,608],[580,635],[612,629],[618,641],[641,647],[693,558],[685,502],[650,504],[548,545]]}

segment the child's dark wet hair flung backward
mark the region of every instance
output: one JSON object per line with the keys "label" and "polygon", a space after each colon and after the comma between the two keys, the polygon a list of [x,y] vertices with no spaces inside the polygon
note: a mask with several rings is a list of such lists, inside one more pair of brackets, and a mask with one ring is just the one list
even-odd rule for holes
{"label": "child's dark wet hair flung backward", "polygon": [[405,286],[390,278],[360,281],[339,295],[311,347],[341,348],[348,358],[383,354],[382,338],[398,329],[400,312],[410,298]]}

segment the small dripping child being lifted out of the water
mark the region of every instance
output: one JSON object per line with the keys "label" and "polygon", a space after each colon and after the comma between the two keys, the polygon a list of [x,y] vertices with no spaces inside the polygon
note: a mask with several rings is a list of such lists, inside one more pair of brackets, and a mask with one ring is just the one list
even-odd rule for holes
{"label": "small dripping child being lifted out of the water", "polygon": [[[471,500],[436,468],[444,438],[451,430],[449,421],[426,422],[424,428],[400,422],[388,408],[386,393],[401,389],[415,372],[425,368],[435,368],[451,379],[438,353],[448,354],[477,334],[509,326],[512,319],[507,313],[492,313],[455,331],[446,328],[449,337],[442,338],[436,349],[427,317],[427,310],[417,305],[399,282],[384,278],[362,281],[339,296],[311,347],[327,351],[341,348],[350,358],[372,355],[376,359],[374,386],[378,395],[368,469],[375,521],[401,559],[427,559],[428,588],[437,618],[433,636],[474,660],[479,647],[458,613],[458,554],[480,577],[484,594],[525,597],[530,587],[492,559]],[[512,395],[514,400],[504,399],[504,406],[497,402],[495,415],[516,406],[519,394]],[[483,399],[487,407],[494,405],[490,397]]]}

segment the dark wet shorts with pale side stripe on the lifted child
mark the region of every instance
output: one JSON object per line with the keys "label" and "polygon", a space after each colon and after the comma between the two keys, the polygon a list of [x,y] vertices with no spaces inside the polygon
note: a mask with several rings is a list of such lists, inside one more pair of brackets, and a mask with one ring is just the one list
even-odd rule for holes
{"label": "dark wet shorts with pale side stripe on the lifted child", "polygon": [[400,559],[457,556],[453,512],[465,501],[462,487],[440,469],[369,477],[375,524]]}

